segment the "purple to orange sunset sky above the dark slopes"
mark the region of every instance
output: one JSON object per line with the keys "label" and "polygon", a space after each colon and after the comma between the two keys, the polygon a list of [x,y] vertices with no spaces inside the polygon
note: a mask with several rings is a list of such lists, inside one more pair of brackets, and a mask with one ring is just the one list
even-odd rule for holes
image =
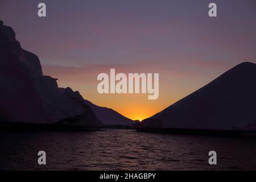
{"label": "purple to orange sunset sky above the dark slopes", "polygon": [[[208,16],[210,2],[217,18]],[[255,0],[0,0],[0,19],[39,56],[44,75],[131,119],[158,113],[242,61],[256,63]],[[110,68],[159,73],[158,100],[99,94],[97,75]]]}

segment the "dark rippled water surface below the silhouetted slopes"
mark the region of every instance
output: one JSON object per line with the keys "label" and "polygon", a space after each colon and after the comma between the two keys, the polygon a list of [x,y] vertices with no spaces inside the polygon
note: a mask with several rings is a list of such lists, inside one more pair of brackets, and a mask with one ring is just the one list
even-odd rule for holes
{"label": "dark rippled water surface below the silhouetted slopes", "polygon": [[[47,165],[38,165],[38,151]],[[208,152],[217,152],[217,165]],[[0,134],[0,169],[203,170],[256,169],[256,139],[137,133],[10,132]]]}

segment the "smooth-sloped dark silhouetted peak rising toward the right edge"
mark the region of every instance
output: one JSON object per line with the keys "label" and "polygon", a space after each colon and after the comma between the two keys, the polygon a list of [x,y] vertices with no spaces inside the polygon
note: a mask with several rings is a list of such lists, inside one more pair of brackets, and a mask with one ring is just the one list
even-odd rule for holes
{"label": "smooth-sloped dark silhouetted peak rising toward the right edge", "polygon": [[145,119],[142,127],[246,130],[256,121],[256,64],[243,62]]}

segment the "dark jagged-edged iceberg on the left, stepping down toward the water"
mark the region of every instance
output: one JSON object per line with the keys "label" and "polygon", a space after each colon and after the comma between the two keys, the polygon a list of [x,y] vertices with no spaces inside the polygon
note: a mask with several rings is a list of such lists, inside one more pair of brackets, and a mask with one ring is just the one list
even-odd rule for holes
{"label": "dark jagged-edged iceberg on the left, stepping down toward the water", "polygon": [[56,80],[43,75],[38,56],[22,49],[0,21],[0,121],[103,126],[79,92],[59,88]]}

